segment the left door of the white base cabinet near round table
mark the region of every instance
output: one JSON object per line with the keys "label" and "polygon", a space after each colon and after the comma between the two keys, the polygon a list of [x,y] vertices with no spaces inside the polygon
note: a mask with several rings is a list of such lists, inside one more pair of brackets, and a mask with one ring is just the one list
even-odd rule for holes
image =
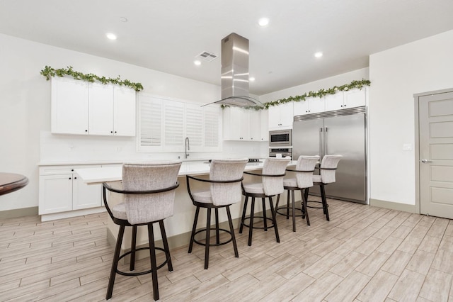
{"label": "left door of the white base cabinet near round table", "polygon": [[40,176],[39,214],[72,210],[72,174]]}

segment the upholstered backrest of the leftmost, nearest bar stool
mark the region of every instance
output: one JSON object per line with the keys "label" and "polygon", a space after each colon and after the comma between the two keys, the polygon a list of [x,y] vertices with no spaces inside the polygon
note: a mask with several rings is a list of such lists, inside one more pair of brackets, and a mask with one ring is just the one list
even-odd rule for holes
{"label": "upholstered backrest of the leftmost, nearest bar stool", "polygon": [[[122,186],[125,191],[150,191],[174,186],[180,161],[144,162],[122,165]],[[149,223],[173,216],[175,190],[156,194],[125,194],[127,221]]]}

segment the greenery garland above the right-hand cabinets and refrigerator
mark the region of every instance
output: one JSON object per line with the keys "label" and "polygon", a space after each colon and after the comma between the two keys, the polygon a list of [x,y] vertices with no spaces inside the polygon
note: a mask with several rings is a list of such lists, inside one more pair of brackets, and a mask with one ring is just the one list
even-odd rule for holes
{"label": "greenery garland above the right-hand cabinets and refrigerator", "polygon": [[[336,94],[338,91],[348,91],[350,89],[355,89],[355,88],[362,89],[363,86],[369,86],[369,84],[371,84],[371,82],[369,82],[369,80],[362,79],[361,81],[352,81],[349,84],[344,84],[341,86],[333,86],[332,88],[329,88],[329,89],[319,89],[318,91],[309,91],[300,96],[289,96],[285,99],[278,99],[277,101],[266,102],[263,105],[265,106],[266,109],[269,109],[270,106],[277,106],[280,104],[289,103],[290,101],[305,101],[306,98],[311,98],[311,97],[322,98],[323,96],[326,96],[327,94]],[[225,108],[225,107],[226,107],[226,105],[222,105],[222,108]],[[258,106],[251,106],[248,108],[255,109],[255,110],[263,109]]]}

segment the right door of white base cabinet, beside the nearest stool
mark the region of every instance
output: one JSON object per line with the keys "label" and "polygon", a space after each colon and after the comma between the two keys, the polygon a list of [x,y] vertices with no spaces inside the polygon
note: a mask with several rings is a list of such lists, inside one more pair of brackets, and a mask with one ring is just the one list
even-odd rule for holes
{"label": "right door of white base cabinet, beside the nearest stool", "polygon": [[72,182],[72,209],[94,208],[102,206],[102,185],[84,184],[79,175],[73,174]]}

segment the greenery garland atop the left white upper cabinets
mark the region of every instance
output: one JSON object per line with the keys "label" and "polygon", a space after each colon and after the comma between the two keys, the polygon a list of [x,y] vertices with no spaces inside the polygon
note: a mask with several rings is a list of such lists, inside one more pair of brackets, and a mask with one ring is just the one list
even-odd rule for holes
{"label": "greenery garland atop the left white upper cabinets", "polygon": [[54,69],[50,66],[44,67],[44,69],[41,70],[40,74],[42,74],[44,77],[46,77],[47,81],[50,80],[50,77],[63,77],[65,75],[73,77],[74,79],[79,79],[87,82],[101,82],[102,84],[117,84],[120,86],[128,86],[135,91],[140,91],[143,90],[143,86],[141,83],[134,83],[130,82],[128,79],[122,80],[120,79],[120,76],[117,78],[113,79],[110,77],[99,77],[96,74],[83,74],[81,72],[76,72],[74,69],[72,69],[71,66],[67,68],[60,68],[60,69]]}

